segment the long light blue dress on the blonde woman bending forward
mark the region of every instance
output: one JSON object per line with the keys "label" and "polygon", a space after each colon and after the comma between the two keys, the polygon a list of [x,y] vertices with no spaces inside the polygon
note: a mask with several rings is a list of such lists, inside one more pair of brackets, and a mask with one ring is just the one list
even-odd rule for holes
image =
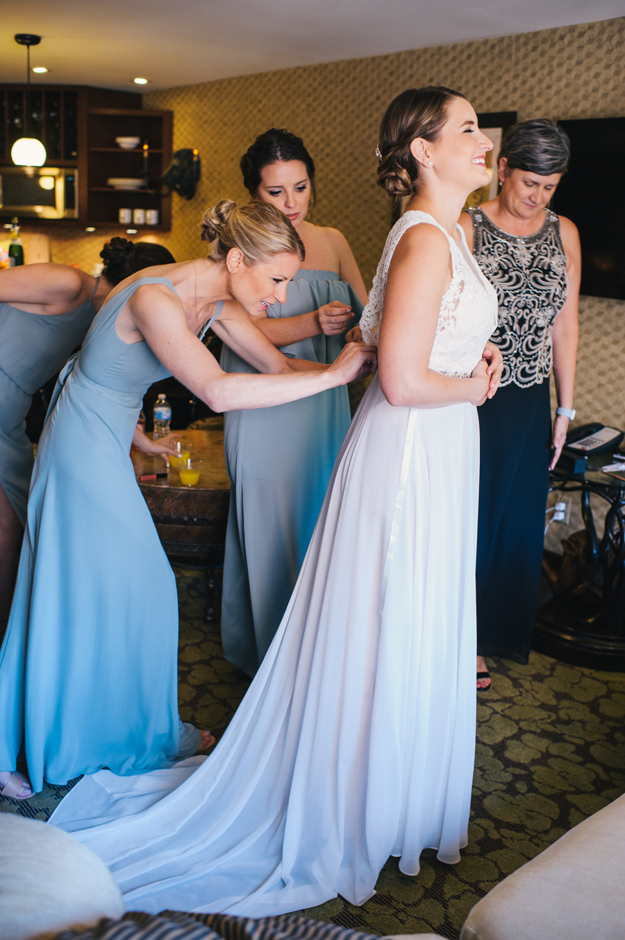
{"label": "long light blue dress on the blonde woman bending forward", "polygon": [[39,441],[0,650],[0,770],[25,760],[35,791],[169,767],[200,741],[178,715],[176,579],[130,458],[143,396],[169,375],[117,336],[142,284],[174,290],[142,277],[102,306]]}

